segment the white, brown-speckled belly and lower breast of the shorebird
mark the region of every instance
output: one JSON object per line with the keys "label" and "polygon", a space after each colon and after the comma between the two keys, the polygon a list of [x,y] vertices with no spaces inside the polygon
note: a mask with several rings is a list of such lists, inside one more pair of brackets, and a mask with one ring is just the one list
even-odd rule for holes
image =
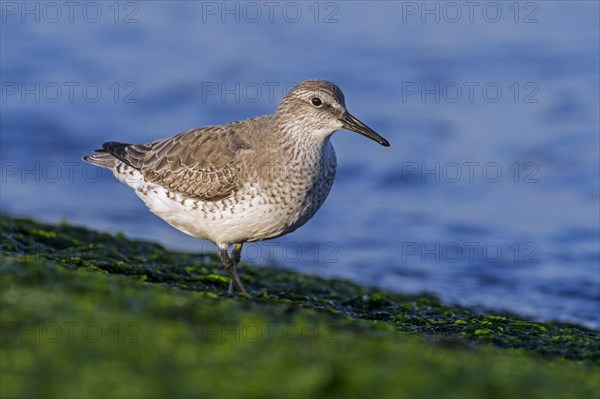
{"label": "white, brown-speckled belly and lower breast of the shorebird", "polygon": [[246,183],[231,197],[217,201],[166,190],[123,163],[113,173],[176,229],[223,245],[278,237],[312,218],[327,198],[336,172],[335,151],[329,141],[323,152],[312,155],[281,179],[267,179],[262,185]]}

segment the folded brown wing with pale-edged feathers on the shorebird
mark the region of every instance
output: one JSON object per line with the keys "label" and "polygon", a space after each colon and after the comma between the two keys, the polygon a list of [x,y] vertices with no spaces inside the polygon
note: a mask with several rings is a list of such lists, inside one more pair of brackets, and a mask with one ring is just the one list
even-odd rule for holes
{"label": "folded brown wing with pale-edged feathers on the shorebird", "polygon": [[248,165],[242,158],[252,159],[254,151],[247,132],[260,129],[265,122],[260,119],[193,129],[149,144],[108,142],[102,148],[140,170],[146,181],[189,198],[216,201],[243,184],[239,172]]}

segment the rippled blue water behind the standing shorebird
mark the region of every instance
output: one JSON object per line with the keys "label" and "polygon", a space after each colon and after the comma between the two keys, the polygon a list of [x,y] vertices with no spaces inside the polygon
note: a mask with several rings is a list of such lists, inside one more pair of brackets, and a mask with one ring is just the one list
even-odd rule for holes
{"label": "rippled blue water behind the standing shorebird", "polygon": [[598,329],[599,3],[472,7],[3,2],[1,211],[210,250],[80,157],[328,79],[392,146],[336,133],[323,208],[245,259]]}

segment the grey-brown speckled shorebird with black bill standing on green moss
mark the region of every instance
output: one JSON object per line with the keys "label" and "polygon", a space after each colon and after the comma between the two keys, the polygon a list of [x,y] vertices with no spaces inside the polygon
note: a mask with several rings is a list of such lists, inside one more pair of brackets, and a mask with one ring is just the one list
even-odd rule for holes
{"label": "grey-brown speckled shorebird with black bill standing on green moss", "polygon": [[306,80],[272,115],[148,144],[109,141],[83,159],[111,170],[176,229],[215,243],[228,292],[235,286],[247,296],[236,270],[242,246],[291,233],[313,217],[333,184],[330,137],[341,129],[389,146],[348,112],[335,84]]}

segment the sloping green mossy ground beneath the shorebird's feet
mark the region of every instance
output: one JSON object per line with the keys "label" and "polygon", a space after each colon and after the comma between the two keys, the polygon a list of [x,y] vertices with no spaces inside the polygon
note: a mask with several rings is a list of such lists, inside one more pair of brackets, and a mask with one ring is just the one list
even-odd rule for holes
{"label": "sloping green mossy ground beneath the shorebird's feet", "polygon": [[600,333],[1,220],[2,397],[598,397]]}

